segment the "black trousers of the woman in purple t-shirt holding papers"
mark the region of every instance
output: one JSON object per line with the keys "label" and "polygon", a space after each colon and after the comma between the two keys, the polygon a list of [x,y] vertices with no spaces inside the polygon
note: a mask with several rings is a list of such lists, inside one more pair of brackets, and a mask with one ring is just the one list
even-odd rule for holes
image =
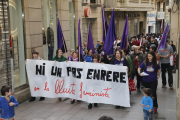
{"label": "black trousers of the woman in purple t-shirt holding papers", "polygon": [[157,107],[158,108],[158,103],[157,103],[157,94],[156,94],[156,90],[157,90],[157,83],[158,81],[152,81],[152,82],[145,82],[143,81],[143,85],[145,88],[150,88],[152,90],[152,97],[153,99],[153,107]]}

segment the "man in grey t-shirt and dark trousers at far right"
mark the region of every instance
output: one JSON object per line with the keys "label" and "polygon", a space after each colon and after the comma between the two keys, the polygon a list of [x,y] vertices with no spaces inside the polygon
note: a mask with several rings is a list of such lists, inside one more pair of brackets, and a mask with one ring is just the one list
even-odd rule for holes
{"label": "man in grey t-shirt and dark trousers at far right", "polygon": [[169,88],[173,89],[173,76],[172,76],[172,67],[170,66],[170,56],[173,54],[173,49],[170,45],[168,45],[168,41],[166,40],[165,48],[161,48],[158,51],[160,61],[161,61],[161,71],[162,71],[162,88],[166,87],[166,70],[168,71],[168,83]]}

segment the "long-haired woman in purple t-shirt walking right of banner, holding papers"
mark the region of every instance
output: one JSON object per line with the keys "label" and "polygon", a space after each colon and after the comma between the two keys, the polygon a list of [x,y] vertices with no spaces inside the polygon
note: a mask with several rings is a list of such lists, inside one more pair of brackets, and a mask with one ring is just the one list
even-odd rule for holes
{"label": "long-haired woman in purple t-shirt walking right of banner, holding papers", "polygon": [[[144,72],[147,74],[140,73],[141,69],[144,69]],[[150,51],[146,56],[146,59],[138,68],[138,74],[143,76],[143,85],[145,88],[151,88],[152,98],[153,98],[153,107],[154,113],[157,113],[158,103],[157,103],[157,83],[158,78],[160,77],[161,70],[159,64],[157,64],[156,55],[153,51]]]}

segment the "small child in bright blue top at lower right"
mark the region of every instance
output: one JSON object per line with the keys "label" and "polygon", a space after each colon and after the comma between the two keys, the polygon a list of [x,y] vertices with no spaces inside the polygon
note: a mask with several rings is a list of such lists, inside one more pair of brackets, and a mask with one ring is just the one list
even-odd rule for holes
{"label": "small child in bright blue top at lower right", "polygon": [[144,120],[153,120],[153,99],[151,98],[152,91],[150,88],[143,89],[144,97],[141,101],[143,107]]}

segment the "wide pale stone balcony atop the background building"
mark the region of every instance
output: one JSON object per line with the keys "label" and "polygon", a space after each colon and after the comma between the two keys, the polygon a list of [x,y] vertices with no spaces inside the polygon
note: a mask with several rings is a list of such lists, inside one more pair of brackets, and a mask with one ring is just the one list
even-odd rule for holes
{"label": "wide pale stone balcony atop the background building", "polygon": [[104,0],[106,10],[117,11],[149,11],[155,10],[154,0]]}

